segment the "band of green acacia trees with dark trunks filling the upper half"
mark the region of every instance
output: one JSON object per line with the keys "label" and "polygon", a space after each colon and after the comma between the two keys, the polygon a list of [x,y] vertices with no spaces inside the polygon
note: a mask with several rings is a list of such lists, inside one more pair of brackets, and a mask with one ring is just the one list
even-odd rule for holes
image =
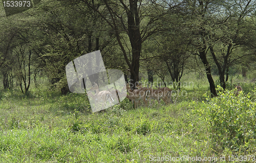
{"label": "band of green acacia trees with dark trunks filling the upper half", "polygon": [[26,93],[32,79],[45,75],[66,94],[65,66],[100,50],[106,68],[122,70],[133,84],[140,69],[150,82],[158,75],[179,83],[184,72],[202,67],[216,96],[212,67],[223,89],[232,66],[255,67],[255,8],[251,0],[45,0],[8,17],[2,8],[3,86],[12,89],[16,81]]}

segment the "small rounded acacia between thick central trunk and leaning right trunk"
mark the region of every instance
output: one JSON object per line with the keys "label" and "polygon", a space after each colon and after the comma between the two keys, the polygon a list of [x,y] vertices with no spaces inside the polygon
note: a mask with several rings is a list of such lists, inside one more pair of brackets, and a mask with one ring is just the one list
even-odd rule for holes
{"label": "small rounded acacia between thick central trunk and leaning right trunk", "polygon": [[[150,73],[157,74],[164,82],[169,72],[174,89],[180,89],[180,80],[184,70],[189,67],[188,59],[191,56],[191,48],[184,36],[178,32],[172,34],[165,31],[160,36],[152,36],[150,41],[147,41],[146,49],[144,49],[147,53],[147,60],[144,63],[148,78],[152,77]],[[154,73],[150,72],[151,70]],[[153,79],[152,81],[148,79],[148,82],[153,82]]]}

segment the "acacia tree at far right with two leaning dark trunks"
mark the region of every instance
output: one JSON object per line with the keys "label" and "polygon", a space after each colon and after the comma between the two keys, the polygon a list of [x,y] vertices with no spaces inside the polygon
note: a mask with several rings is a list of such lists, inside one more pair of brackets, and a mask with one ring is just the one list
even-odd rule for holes
{"label": "acacia tree at far right with two leaning dark trunks", "polygon": [[229,67],[249,55],[236,55],[238,52],[234,50],[253,42],[248,38],[254,32],[249,32],[245,20],[255,10],[255,2],[191,0],[186,1],[185,8],[189,15],[186,24],[191,31],[191,38],[194,39],[191,43],[197,47],[195,55],[198,55],[204,64],[211,95],[216,96],[207,53],[216,64],[221,86],[225,89]]}

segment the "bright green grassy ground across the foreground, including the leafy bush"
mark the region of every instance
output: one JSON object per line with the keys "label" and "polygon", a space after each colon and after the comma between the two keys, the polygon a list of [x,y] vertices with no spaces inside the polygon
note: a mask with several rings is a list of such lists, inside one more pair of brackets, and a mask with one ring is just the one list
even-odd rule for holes
{"label": "bright green grassy ground across the foreground, including the leafy bush", "polygon": [[[253,93],[253,84],[243,86]],[[207,83],[196,81],[181,92],[169,106],[134,110],[124,100],[92,113],[82,94],[2,91],[0,162],[221,162],[221,156],[256,154],[253,94],[209,99]]]}

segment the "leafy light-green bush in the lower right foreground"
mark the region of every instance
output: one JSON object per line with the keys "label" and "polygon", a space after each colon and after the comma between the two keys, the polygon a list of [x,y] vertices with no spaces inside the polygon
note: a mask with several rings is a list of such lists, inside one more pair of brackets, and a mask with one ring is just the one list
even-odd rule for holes
{"label": "leafy light-green bush in the lower right foreground", "polygon": [[250,93],[236,97],[232,91],[219,91],[206,109],[212,138],[219,149],[252,152],[256,144],[256,103],[250,99]]}

